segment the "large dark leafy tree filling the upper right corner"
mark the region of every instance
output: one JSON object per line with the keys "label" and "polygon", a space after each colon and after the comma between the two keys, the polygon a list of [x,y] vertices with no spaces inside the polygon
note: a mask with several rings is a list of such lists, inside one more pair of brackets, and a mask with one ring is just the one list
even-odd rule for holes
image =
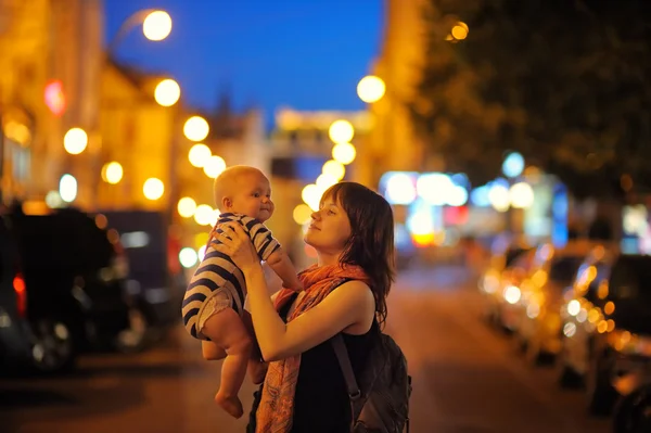
{"label": "large dark leafy tree filling the upper right corner", "polygon": [[579,198],[650,189],[649,17],[644,0],[429,0],[417,130],[475,183],[518,150]]}

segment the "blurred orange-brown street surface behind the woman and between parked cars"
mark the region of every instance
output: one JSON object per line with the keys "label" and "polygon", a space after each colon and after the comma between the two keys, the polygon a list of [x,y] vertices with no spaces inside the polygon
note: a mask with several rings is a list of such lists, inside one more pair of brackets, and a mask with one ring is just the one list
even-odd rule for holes
{"label": "blurred orange-brown street surface behind the woman and between parked cars", "polygon": [[[560,391],[550,367],[528,367],[480,317],[478,293],[459,269],[400,275],[386,331],[413,377],[414,433],[605,433],[579,391]],[[219,362],[178,327],[142,354],[93,355],[66,378],[0,380],[0,431],[243,432],[213,403]],[[241,391],[251,406],[253,386]]]}

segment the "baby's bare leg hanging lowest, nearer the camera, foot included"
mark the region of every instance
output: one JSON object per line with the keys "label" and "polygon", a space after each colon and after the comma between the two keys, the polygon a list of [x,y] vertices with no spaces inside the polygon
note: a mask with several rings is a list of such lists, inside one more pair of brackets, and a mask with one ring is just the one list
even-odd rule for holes
{"label": "baby's bare leg hanging lowest, nearer the camera, foot included", "polygon": [[226,308],[206,320],[201,332],[226,351],[221,365],[221,384],[215,395],[215,402],[234,418],[242,417],[244,409],[238,398],[238,392],[246,375],[246,366],[251,357],[251,338],[240,316]]}

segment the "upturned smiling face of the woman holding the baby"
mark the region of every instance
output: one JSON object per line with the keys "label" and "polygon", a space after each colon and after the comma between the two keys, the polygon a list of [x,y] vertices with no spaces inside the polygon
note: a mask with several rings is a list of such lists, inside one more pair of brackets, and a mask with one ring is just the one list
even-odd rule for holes
{"label": "upturned smiling face of the woman holding the baby", "polygon": [[311,214],[305,243],[317,251],[336,254],[344,251],[350,238],[350,220],[339,201],[324,198],[319,211]]}

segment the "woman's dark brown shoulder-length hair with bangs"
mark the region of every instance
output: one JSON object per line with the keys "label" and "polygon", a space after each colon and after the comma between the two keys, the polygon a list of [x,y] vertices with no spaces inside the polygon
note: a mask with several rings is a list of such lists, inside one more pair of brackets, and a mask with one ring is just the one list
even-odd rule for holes
{"label": "woman's dark brown shoulder-length hair with bangs", "polygon": [[340,258],[358,265],[369,276],[380,324],[386,319],[386,296],[394,281],[394,219],[391,205],[380,194],[356,182],[330,187],[323,199],[343,206],[350,220],[350,238]]}

